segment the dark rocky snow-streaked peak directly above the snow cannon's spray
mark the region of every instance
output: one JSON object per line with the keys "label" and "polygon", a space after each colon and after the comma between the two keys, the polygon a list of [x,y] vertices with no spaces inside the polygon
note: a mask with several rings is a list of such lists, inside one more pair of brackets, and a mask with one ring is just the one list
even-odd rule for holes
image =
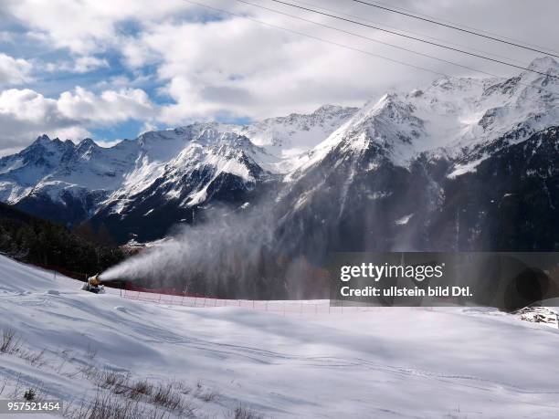
{"label": "dark rocky snow-streaked peak directly above the snow cannon's spray", "polygon": [[265,170],[274,161],[247,137],[216,124],[192,127],[185,148],[143,188],[122,188],[88,222],[108,228],[119,242],[155,240],[180,223],[202,218],[211,204],[256,203],[277,182]]}

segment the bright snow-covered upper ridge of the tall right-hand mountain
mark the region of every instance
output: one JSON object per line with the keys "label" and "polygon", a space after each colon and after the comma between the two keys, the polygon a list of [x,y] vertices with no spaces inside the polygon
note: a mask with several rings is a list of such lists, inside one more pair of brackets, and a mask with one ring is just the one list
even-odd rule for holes
{"label": "bright snow-covered upper ridge of the tall right-hand mountain", "polygon": [[[535,59],[531,66],[543,72],[559,69],[549,57]],[[536,131],[559,125],[559,99],[554,93],[559,93],[555,79],[528,71],[504,80],[445,77],[425,89],[390,92],[367,102],[338,131],[299,158],[298,173],[333,150],[361,154],[371,144],[385,150],[392,162],[407,166],[421,152],[457,156],[512,131],[515,142],[523,141]]]}

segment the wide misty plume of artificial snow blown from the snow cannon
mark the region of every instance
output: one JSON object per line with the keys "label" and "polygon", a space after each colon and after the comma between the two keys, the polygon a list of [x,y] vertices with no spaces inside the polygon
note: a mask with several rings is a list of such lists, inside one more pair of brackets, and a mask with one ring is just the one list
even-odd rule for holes
{"label": "wide misty plume of artificial snow blown from the snow cannon", "polygon": [[313,268],[300,257],[278,252],[269,205],[258,210],[245,206],[235,213],[214,209],[207,219],[211,221],[180,227],[168,240],[111,267],[101,278],[223,298],[301,296],[299,278]]}

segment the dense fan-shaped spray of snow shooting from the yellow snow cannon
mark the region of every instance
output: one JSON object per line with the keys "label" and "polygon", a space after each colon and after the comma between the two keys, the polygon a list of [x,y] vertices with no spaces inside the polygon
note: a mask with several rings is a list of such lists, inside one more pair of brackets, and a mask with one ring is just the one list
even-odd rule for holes
{"label": "dense fan-shaped spray of snow shooting from the yellow snow cannon", "polygon": [[151,246],[101,275],[141,279],[150,287],[195,293],[243,295],[259,278],[273,246],[269,212],[230,208],[211,211],[211,223],[181,226],[168,240]]}

